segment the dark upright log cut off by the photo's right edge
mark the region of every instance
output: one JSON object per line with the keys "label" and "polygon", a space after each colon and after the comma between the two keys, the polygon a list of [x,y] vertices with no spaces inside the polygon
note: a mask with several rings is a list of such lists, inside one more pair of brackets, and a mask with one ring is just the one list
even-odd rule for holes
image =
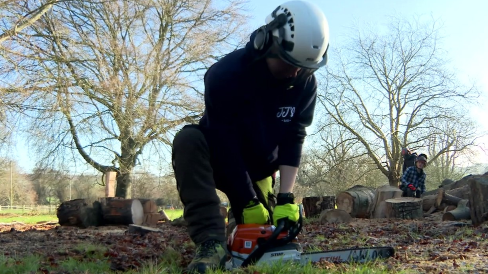
{"label": "dark upright log cut off by the photo's right edge", "polygon": [[488,220],[488,178],[474,178],[468,182],[471,222],[474,227]]}

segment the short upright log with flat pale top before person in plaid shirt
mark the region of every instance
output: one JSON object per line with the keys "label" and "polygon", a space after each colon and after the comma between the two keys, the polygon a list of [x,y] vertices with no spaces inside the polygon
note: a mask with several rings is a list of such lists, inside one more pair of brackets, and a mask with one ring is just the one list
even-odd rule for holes
{"label": "short upright log with flat pale top before person in plaid shirt", "polygon": [[420,219],[423,216],[420,198],[400,197],[385,202],[387,218]]}

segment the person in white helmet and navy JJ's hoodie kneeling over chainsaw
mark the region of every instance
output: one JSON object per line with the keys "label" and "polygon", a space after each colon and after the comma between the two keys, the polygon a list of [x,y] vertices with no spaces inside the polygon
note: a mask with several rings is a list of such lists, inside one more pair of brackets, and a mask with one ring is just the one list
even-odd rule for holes
{"label": "person in white helmet and navy JJ's hoodie kneeling over chainsaw", "polygon": [[328,23],[318,6],[302,0],[277,6],[265,23],[205,72],[204,114],[172,143],[183,218],[196,246],[191,273],[227,260],[215,189],[227,196],[237,224],[291,226],[299,217],[293,185],[314,114],[314,72],[327,62]]}

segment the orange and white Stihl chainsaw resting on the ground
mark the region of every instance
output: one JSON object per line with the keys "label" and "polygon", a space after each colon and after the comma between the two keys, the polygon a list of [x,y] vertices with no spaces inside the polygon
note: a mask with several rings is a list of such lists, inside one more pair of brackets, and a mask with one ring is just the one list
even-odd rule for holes
{"label": "orange and white Stihl chainsaw resting on the ground", "polygon": [[297,236],[303,225],[300,205],[298,222],[286,229],[285,221],[276,226],[240,224],[236,225],[227,239],[231,258],[226,269],[245,268],[250,265],[284,263],[291,261],[300,265],[318,262],[364,263],[385,259],[394,255],[391,247],[371,247],[331,250],[323,252],[303,252]]}

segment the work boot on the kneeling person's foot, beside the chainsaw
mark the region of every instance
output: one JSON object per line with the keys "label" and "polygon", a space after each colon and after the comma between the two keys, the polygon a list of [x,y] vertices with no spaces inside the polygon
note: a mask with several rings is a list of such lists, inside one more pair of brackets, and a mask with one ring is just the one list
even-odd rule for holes
{"label": "work boot on the kneeling person's foot, beside the chainsaw", "polygon": [[208,240],[196,245],[196,254],[186,268],[187,274],[204,274],[206,270],[224,270],[225,262],[230,255],[225,243]]}

